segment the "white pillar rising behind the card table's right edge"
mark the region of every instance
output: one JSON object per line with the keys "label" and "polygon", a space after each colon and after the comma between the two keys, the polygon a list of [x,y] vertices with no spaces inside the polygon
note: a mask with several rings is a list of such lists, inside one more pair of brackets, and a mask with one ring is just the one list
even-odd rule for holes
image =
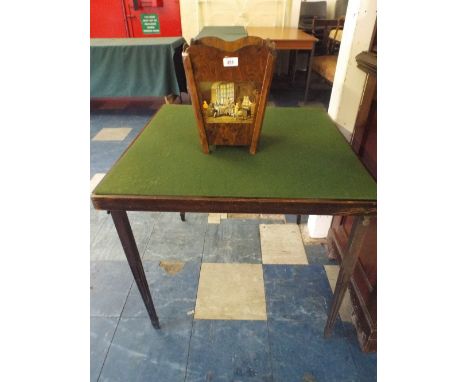
{"label": "white pillar rising behind the card table's right edge", "polygon": [[328,114],[349,140],[354,130],[365,73],[356,56],[369,49],[377,16],[376,0],[349,0]]}

